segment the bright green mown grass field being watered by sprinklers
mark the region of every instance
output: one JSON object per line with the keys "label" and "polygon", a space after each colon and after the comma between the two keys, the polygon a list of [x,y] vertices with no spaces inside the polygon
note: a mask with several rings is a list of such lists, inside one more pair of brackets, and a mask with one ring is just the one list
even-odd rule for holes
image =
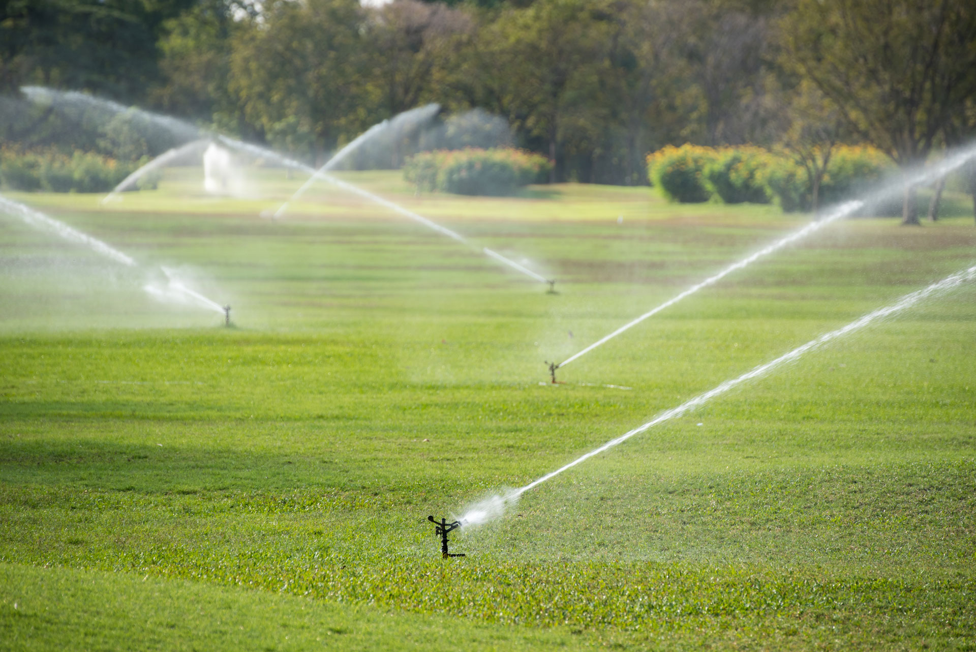
{"label": "bright green mown grass field being watered by sprinklers", "polygon": [[[414,196],[559,279],[303,180],[0,216],[0,649],[976,650],[976,288],[926,301],[527,493],[457,515],[976,259],[949,217],[832,224],[560,370],[805,224],[647,188]],[[173,266],[223,315],[154,303]]]}

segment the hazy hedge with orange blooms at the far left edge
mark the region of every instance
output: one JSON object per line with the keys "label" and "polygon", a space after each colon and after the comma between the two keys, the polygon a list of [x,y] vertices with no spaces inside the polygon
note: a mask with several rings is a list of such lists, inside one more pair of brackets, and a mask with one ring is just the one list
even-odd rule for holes
{"label": "hazy hedge with orange blooms at the far left edge", "polygon": [[[91,152],[68,156],[55,150],[0,150],[0,182],[14,190],[50,192],[107,192],[139,169],[144,161],[124,163]],[[148,175],[140,188],[154,188],[158,177]]]}

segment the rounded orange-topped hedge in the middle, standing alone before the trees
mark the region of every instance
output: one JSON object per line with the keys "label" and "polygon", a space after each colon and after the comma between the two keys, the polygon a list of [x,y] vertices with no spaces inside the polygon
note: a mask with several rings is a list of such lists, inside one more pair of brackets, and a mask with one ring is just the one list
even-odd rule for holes
{"label": "rounded orange-topped hedge in the middle, standing alone before the trees", "polygon": [[529,183],[542,183],[550,165],[546,157],[520,149],[442,149],[408,158],[403,177],[427,192],[510,195]]}

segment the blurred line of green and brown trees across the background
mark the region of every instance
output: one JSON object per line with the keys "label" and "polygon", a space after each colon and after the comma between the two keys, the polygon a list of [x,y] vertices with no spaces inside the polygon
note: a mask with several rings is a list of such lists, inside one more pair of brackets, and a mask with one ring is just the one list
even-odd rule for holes
{"label": "blurred line of green and brown trees across the background", "polygon": [[439,102],[506,118],[552,161],[551,181],[645,183],[648,151],[752,143],[816,182],[840,143],[907,169],[976,137],[976,5],[0,0],[0,85],[25,83],[140,103],[311,162]]}

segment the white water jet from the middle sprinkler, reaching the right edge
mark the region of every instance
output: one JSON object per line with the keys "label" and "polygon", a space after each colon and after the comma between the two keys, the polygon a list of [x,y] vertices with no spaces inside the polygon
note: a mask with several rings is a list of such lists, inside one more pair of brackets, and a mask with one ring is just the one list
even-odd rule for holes
{"label": "white water jet from the middle sprinkler, reaching the right edge", "polygon": [[954,154],[952,156],[947,156],[945,159],[943,159],[942,161],[940,161],[937,165],[932,166],[928,170],[925,170],[923,172],[917,173],[913,177],[910,177],[907,180],[900,181],[897,185],[892,184],[892,185],[889,185],[889,186],[887,186],[885,188],[882,188],[881,190],[878,190],[877,192],[875,192],[868,199],[857,200],[857,201],[849,201],[849,202],[846,202],[846,203],[841,204],[840,206],[837,206],[826,217],[824,217],[824,218],[822,218],[822,219],[820,219],[820,220],[818,220],[816,222],[811,222],[810,224],[807,224],[803,228],[801,228],[801,229],[799,229],[797,231],[794,231],[790,235],[787,235],[786,237],[781,238],[780,240],[777,240],[776,242],[768,245],[767,247],[764,247],[763,249],[760,249],[759,251],[755,252],[751,256],[748,256],[748,257],[744,258],[743,260],[739,261],[738,263],[735,263],[733,265],[729,265],[729,266],[725,267],[724,269],[722,269],[721,271],[719,271],[717,274],[714,274],[713,276],[710,276],[709,278],[705,279],[701,283],[698,283],[697,285],[691,286],[690,288],[688,288],[684,292],[680,293],[679,295],[677,295],[677,296],[669,299],[664,304],[661,304],[660,306],[657,306],[657,307],[654,307],[654,308],[648,310],[647,312],[645,312],[644,314],[640,315],[636,319],[633,319],[632,321],[624,324],[623,326],[621,326],[620,328],[618,328],[613,333],[610,333],[609,335],[604,336],[603,338],[597,340],[596,342],[594,342],[590,346],[587,346],[583,350],[581,350],[581,351],[579,351],[577,353],[574,353],[573,355],[569,356],[568,358],[566,358],[565,360],[563,360],[559,364],[555,365],[555,369],[559,369],[561,367],[565,367],[567,364],[569,364],[573,360],[576,360],[576,359],[578,359],[578,358],[586,355],[587,353],[589,353],[591,350],[593,350],[597,346],[603,345],[603,344],[609,342],[610,340],[613,340],[615,337],[617,337],[621,333],[624,333],[625,331],[630,330],[630,328],[636,326],[637,324],[639,324],[640,322],[644,321],[648,317],[652,317],[655,314],[657,314],[658,312],[660,312],[661,310],[664,310],[667,307],[673,306],[674,304],[678,303],[682,299],[685,299],[685,298],[690,297],[691,295],[695,294],[699,290],[701,290],[703,288],[707,288],[710,285],[713,285],[713,284],[717,283],[719,280],[721,280],[725,276],[729,275],[733,271],[736,271],[738,269],[743,269],[744,267],[747,267],[749,265],[752,265],[752,263],[754,263],[755,261],[759,260],[760,258],[763,258],[765,256],[768,256],[769,254],[772,254],[773,252],[779,251],[780,249],[783,249],[784,247],[786,247],[789,244],[792,244],[793,242],[796,242],[798,240],[801,240],[801,239],[805,238],[806,236],[810,235],[811,233],[814,233],[815,231],[820,230],[821,228],[823,228],[827,224],[832,224],[832,223],[836,222],[837,220],[841,220],[843,218],[849,217],[849,216],[853,215],[854,213],[856,213],[857,211],[859,211],[861,208],[863,208],[865,206],[871,206],[875,202],[878,202],[878,201],[881,201],[881,200],[885,199],[886,197],[888,197],[889,195],[891,195],[893,192],[896,192],[898,190],[901,190],[904,187],[904,185],[906,185],[906,184],[909,184],[909,185],[917,185],[917,184],[920,184],[920,183],[928,183],[928,182],[934,181],[936,179],[941,179],[942,177],[945,177],[947,174],[949,174],[950,172],[953,172],[957,168],[961,167],[967,161],[969,161],[970,159],[972,159],[974,157],[976,157],[976,147],[970,147],[969,149],[966,149],[966,150],[961,151],[961,152],[957,152],[956,154]]}

